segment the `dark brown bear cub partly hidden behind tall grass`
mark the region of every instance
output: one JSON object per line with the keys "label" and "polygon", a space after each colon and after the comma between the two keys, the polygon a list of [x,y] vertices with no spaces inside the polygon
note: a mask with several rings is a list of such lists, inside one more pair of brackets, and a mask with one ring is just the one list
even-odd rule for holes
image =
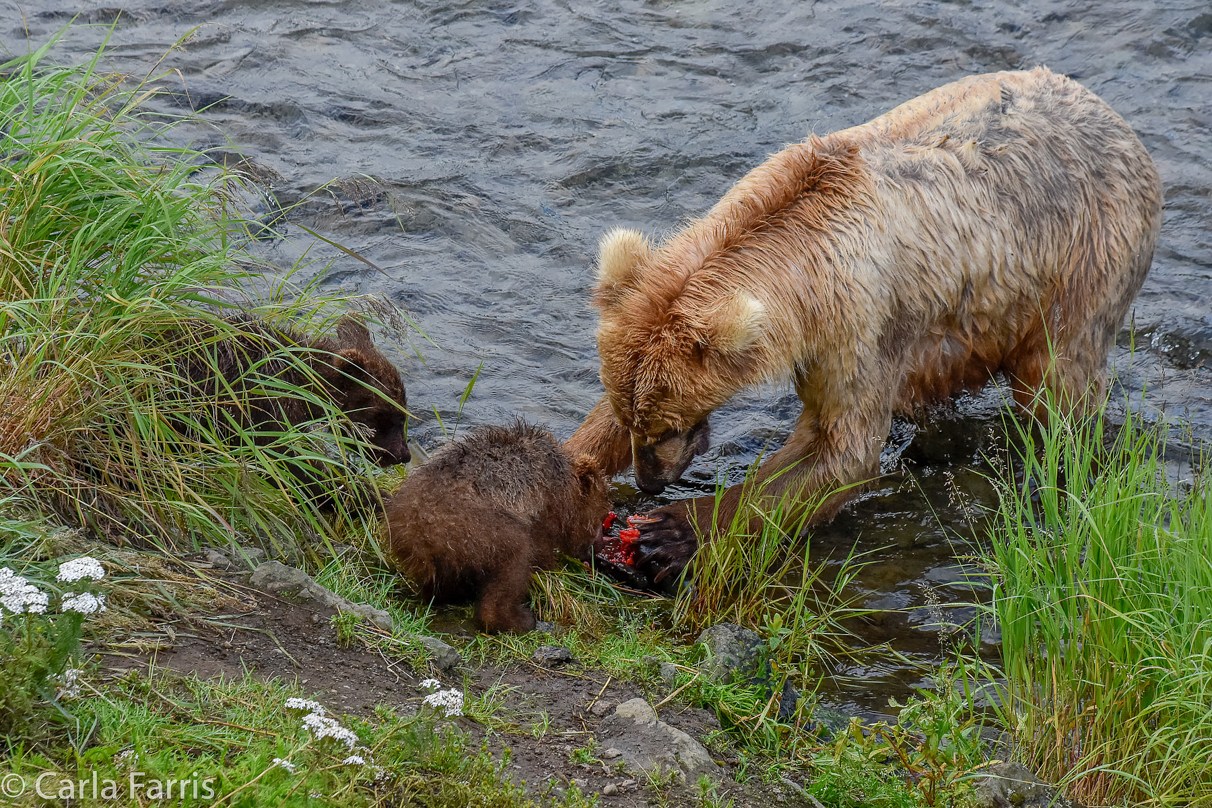
{"label": "dark brown bear cub partly hidden behind tall grass", "polygon": [[[200,327],[188,336],[199,343],[184,353],[182,374],[193,380],[190,395],[213,402],[211,418],[222,428],[269,430],[302,424],[319,416],[307,396],[275,392],[299,389],[327,397],[351,422],[366,428],[379,465],[411,459],[406,436],[407,399],[400,372],[376,348],[366,326],[353,316],[337,323],[337,338],[309,338],[253,319],[233,319],[233,337],[216,338]],[[298,351],[310,376],[284,355]]]}

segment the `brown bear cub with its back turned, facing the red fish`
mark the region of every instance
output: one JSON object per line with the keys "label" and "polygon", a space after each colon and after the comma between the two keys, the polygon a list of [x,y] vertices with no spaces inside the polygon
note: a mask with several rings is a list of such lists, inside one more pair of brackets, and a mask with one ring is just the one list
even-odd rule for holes
{"label": "brown bear cub with its back turned, facing the red fish", "polygon": [[606,475],[521,420],[485,426],[413,469],[387,502],[388,550],[427,601],[478,601],[485,631],[534,628],[531,571],[588,561],[610,510]]}

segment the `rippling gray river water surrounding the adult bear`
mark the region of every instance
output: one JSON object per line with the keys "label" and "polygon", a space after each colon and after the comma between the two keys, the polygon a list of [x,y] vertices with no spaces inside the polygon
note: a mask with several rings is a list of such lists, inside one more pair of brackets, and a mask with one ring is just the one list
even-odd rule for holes
{"label": "rippling gray river water surrounding the adult bear", "polygon": [[[276,205],[296,206],[267,254],[286,267],[310,247],[320,260],[301,280],[322,271],[322,285],[384,293],[439,346],[423,345],[423,363],[395,355],[422,446],[441,440],[431,408],[450,423],[481,362],[464,424],[521,413],[561,436],[573,430],[600,395],[588,291],[606,229],[667,231],[808,132],[859,124],[964,75],[1046,64],[1107,99],[1157,161],[1161,242],[1136,333],[1113,361],[1126,390],[1148,386],[1151,406],[1207,436],[1212,12],[1139,0],[1057,7],[130,0],[119,15],[0,0],[0,44],[22,53],[80,15],[97,25],[74,28],[58,58],[84,58],[105,36],[113,69],[143,74],[164,57],[172,73],[158,84],[171,96],[158,103],[205,108],[182,132],[241,153]],[[314,247],[295,225],[385,275]],[[785,389],[738,396],[673,493],[709,483],[721,464],[737,476],[796,413]],[[966,503],[994,502],[972,466],[999,430],[988,397],[927,419],[907,472],[814,537],[818,557],[856,543],[873,551],[859,586],[869,604],[898,612],[864,636],[910,659],[937,653],[932,603],[972,598],[956,537],[971,534]],[[864,680],[845,697],[864,710],[917,681],[903,663],[844,672]]]}

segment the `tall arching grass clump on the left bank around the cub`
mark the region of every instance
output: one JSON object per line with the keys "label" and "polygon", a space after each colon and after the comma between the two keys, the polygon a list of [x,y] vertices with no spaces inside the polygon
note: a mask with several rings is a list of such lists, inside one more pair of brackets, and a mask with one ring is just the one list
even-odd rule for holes
{"label": "tall arching grass clump on the left bank around the cub", "polygon": [[[0,65],[0,485],[28,508],[168,550],[331,534],[356,518],[370,464],[320,385],[282,389],[268,371],[248,384],[319,413],[259,431],[216,423],[215,402],[182,392],[187,360],[213,361],[244,333],[221,313],[255,308],[239,178],[162,145],[172,121],[142,111],[147,82],[102,75],[99,52],[50,67],[50,46]],[[324,327],[343,303],[288,297],[271,290],[257,315]],[[284,348],[264,366],[313,379],[307,359]],[[316,482],[336,497],[316,498]]]}

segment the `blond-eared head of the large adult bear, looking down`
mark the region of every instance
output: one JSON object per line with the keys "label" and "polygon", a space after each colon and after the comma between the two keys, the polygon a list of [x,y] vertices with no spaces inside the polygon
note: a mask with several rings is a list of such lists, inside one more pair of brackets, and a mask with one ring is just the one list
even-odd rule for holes
{"label": "blond-eared head of the large adult bear, looking down", "polygon": [[601,379],[631,432],[635,482],[647,493],[664,491],[707,449],[708,416],[761,365],[765,306],[704,263],[686,245],[654,250],[635,230],[612,230],[600,247]]}

